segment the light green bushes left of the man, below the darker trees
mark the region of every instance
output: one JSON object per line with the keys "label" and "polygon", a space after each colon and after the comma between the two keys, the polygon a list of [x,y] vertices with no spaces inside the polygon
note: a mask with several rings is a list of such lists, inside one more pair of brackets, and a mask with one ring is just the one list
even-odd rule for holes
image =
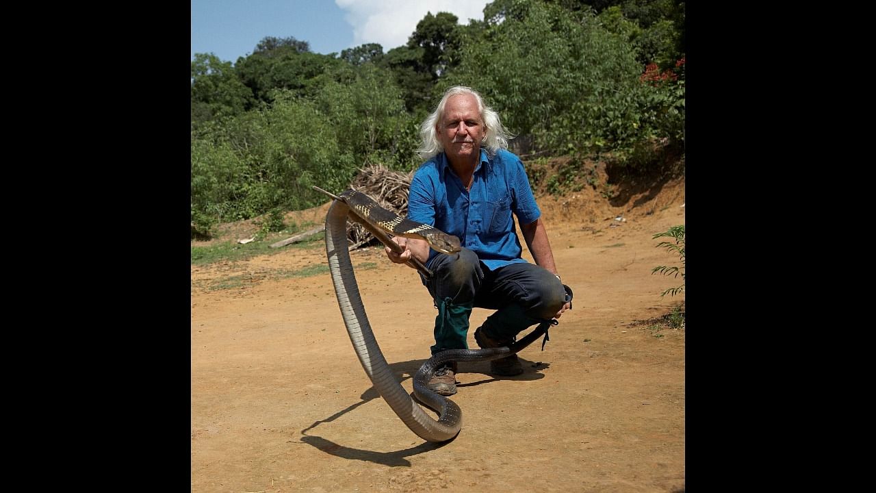
{"label": "light green bushes left of the man, below the darker trees", "polygon": [[193,132],[192,217],[199,228],[321,204],[325,197],[312,185],[347,189],[369,163],[399,170],[418,164],[418,122],[389,71],[343,64],[321,81],[312,97],[273,89],[272,104]]}

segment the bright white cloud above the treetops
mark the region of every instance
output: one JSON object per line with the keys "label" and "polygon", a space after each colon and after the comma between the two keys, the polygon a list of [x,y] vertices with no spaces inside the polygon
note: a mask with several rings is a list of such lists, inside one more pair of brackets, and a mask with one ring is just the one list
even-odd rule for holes
{"label": "bright white cloud above the treetops", "polygon": [[[469,19],[482,20],[484,6],[491,0],[335,0],[346,11],[344,18],[353,26],[353,46],[364,43],[380,43],[384,53],[407,43],[407,38],[417,28],[417,23],[427,12],[451,12],[459,23],[469,24]],[[351,46],[352,47],[352,46]]]}

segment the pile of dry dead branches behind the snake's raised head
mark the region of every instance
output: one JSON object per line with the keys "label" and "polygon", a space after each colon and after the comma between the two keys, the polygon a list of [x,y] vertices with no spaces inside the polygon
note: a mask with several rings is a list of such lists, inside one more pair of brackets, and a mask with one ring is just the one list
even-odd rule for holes
{"label": "pile of dry dead branches behind the snake's raised head", "polygon": [[[374,199],[387,211],[393,211],[402,218],[407,215],[407,191],[411,186],[413,171],[400,173],[391,171],[379,164],[359,168],[359,173],[350,188],[358,190]],[[362,247],[376,240],[374,235],[358,223],[347,223],[347,239],[350,250]]]}

